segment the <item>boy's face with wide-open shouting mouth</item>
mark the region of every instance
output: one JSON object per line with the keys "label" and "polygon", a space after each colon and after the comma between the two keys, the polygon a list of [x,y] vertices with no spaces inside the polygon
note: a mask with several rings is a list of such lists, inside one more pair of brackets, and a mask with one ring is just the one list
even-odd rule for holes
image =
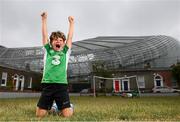
{"label": "boy's face with wide-open shouting mouth", "polygon": [[51,43],[52,48],[55,51],[60,51],[64,47],[64,44],[65,44],[65,41],[59,37],[57,39],[52,40],[52,43]]}

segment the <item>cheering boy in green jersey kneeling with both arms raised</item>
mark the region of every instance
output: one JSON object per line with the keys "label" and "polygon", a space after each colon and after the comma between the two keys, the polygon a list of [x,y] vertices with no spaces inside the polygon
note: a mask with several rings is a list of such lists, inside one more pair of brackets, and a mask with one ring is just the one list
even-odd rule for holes
{"label": "cheering boy in green jersey kneeling with both arms raised", "polygon": [[50,42],[47,33],[47,13],[42,15],[42,43],[45,48],[44,71],[42,78],[42,93],[37,104],[36,116],[44,117],[51,109],[53,101],[56,102],[59,115],[70,117],[73,110],[70,108],[69,94],[67,91],[67,64],[72,47],[74,31],[74,18],[68,17],[69,32],[66,37],[64,33],[52,32]]}

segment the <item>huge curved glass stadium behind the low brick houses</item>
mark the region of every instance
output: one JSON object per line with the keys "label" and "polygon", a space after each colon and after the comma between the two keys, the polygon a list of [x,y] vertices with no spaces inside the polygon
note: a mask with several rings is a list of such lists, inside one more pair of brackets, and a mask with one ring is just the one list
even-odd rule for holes
{"label": "huge curved glass stadium behind the low brick houses", "polygon": [[[0,46],[0,64],[37,72],[43,70],[42,47]],[[89,76],[94,62],[113,69],[167,68],[180,60],[180,44],[169,36],[107,36],[73,43],[69,77]],[[87,77],[86,77],[87,78]]]}

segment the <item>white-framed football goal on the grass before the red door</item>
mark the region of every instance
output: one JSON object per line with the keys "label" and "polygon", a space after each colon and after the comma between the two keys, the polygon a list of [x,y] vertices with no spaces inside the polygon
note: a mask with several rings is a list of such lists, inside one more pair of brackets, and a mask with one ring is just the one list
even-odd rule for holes
{"label": "white-framed football goal on the grass before the red door", "polygon": [[116,78],[108,78],[101,76],[93,76],[93,96],[96,97],[97,91],[104,92],[129,92],[137,90],[139,96],[141,95],[137,76],[124,76]]}

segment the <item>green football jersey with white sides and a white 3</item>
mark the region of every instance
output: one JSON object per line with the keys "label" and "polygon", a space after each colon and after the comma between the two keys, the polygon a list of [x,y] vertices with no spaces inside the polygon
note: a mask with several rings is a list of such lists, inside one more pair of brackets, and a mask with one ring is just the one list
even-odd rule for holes
{"label": "green football jersey with white sides and a white 3", "polygon": [[67,45],[55,51],[49,44],[44,45],[44,71],[42,83],[67,84],[67,66],[71,50]]}

